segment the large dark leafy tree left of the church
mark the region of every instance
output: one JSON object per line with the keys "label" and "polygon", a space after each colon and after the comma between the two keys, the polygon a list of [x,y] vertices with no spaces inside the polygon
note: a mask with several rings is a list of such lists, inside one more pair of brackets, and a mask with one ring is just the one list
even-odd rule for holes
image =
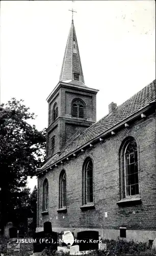
{"label": "large dark leafy tree left of the church", "polygon": [[[45,129],[39,132],[28,123],[35,119],[23,100],[12,98],[0,106],[0,187],[2,223],[13,221],[21,187],[36,174],[45,157]],[[28,192],[28,191],[27,191]],[[25,190],[26,193],[26,190]],[[26,193],[27,194],[27,193]],[[23,198],[23,202],[24,202]],[[25,201],[26,202],[26,201]]]}

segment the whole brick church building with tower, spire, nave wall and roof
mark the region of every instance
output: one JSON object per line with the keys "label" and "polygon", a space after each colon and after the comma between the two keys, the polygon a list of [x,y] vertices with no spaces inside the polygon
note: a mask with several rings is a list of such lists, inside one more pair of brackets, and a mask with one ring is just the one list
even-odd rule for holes
{"label": "whole brick church building with tower, spire, nave wall and roof", "polygon": [[47,98],[37,229],[96,230],[103,239],[156,237],[155,80],[96,122],[73,20],[59,83]]}

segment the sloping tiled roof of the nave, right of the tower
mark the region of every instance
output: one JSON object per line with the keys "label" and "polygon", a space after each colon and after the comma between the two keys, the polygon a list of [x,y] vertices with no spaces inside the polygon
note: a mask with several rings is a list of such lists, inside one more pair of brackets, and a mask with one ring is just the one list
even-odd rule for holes
{"label": "sloping tiled roof of the nave, right of the tower", "polygon": [[66,157],[68,154],[74,152],[81,146],[85,145],[87,142],[90,142],[92,139],[100,136],[100,134],[107,132],[115,125],[141,111],[153,101],[155,102],[155,91],[156,88],[154,80],[137,94],[126,100],[121,105],[117,106],[117,108],[112,113],[103,117],[98,122],[92,124],[82,134],[77,135],[73,141],[66,145],[61,153],[58,153],[47,160],[41,169],[50,167],[50,165],[61,160],[63,157]]}

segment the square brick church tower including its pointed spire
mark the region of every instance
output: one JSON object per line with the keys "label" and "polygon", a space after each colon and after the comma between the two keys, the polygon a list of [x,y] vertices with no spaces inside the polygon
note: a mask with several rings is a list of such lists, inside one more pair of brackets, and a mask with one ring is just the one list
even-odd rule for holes
{"label": "square brick church tower including its pointed spire", "polygon": [[76,135],[96,122],[97,92],[85,85],[72,19],[59,83],[47,98],[46,159],[61,152]]}

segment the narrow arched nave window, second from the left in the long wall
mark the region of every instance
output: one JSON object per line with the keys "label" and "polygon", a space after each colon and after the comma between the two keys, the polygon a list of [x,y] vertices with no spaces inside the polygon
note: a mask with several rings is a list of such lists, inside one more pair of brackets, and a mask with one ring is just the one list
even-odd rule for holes
{"label": "narrow arched nave window, second from the left in the long wall", "polygon": [[59,181],[59,208],[66,207],[66,173],[62,170]]}

